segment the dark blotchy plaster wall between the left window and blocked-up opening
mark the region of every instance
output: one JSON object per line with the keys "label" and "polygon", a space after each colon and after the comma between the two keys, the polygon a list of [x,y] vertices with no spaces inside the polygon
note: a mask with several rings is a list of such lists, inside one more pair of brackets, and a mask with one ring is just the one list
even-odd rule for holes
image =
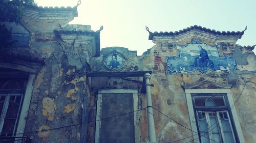
{"label": "dark blotchy plaster wall between the left window and blocked-up opening", "polygon": [[[49,44],[50,45],[50,44]],[[37,47],[33,47],[37,48]],[[51,51],[49,52],[50,49]],[[41,49],[46,64],[38,71],[34,81],[34,90],[27,118],[25,132],[32,142],[79,142],[81,125],[72,127],[71,124],[82,122],[84,98],[87,98],[88,83],[84,70],[77,70],[70,65],[65,53],[57,44]],[[82,63],[81,63],[82,65]],[[56,129],[57,128],[57,129]],[[87,127],[86,127],[87,128]]]}

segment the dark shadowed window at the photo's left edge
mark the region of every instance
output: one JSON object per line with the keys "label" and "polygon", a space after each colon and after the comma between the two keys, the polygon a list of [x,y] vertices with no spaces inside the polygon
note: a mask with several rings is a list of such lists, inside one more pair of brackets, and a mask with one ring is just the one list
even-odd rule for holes
{"label": "dark shadowed window at the photo's left edge", "polygon": [[23,71],[0,68],[1,137],[15,136],[28,80],[27,75]]}

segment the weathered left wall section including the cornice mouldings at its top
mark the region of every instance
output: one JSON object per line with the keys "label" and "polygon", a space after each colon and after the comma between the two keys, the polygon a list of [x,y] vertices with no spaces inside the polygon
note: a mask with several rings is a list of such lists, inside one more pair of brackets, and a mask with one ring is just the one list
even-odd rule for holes
{"label": "weathered left wall section including the cornice mouldings at its top", "polygon": [[[22,23],[18,26],[24,27],[27,30],[25,32],[29,33],[28,43],[23,47],[3,49],[14,57],[18,55],[24,59],[44,61],[37,69],[33,81],[26,119],[24,135],[29,136],[32,142],[79,142],[86,138],[89,82],[85,72],[90,69],[87,60],[93,56],[89,51],[90,48],[95,48],[95,44],[83,47],[83,43],[79,42],[82,46],[77,46],[78,42],[73,34],[64,34],[73,38],[72,41],[65,41],[54,33],[54,30],[69,31],[70,29],[62,27],[77,16],[76,12],[76,8],[26,10]],[[74,26],[71,28],[76,32]],[[84,31],[91,31],[90,26],[84,25],[82,28]],[[24,33],[23,31],[19,32]],[[92,38],[83,38],[88,39]],[[71,48],[72,52],[66,51],[64,46]],[[75,51],[74,47],[78,50]],[[75,126],[71,126],[73,124]]]}

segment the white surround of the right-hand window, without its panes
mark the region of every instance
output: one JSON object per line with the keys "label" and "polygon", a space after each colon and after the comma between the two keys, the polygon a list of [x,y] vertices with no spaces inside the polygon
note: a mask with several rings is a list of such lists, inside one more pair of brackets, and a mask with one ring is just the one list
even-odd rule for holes
{"label": "white surround of the right-hand window, without its panes", "polygon": [[[191,87],[191,88],[194,88],[194,87]],[[191,129],[193,131],[199,131],[198,123],[197,123],[197,119],[196,119],[196,117],[197,117],[196,110],[194,108],[193,94],[209,94],[209,95],[226,94],[226,97],[224,97],[224,98],[225,98],[225,102],[227,104],[227,109],[228,109],[227,111],[229,113],[231,125],[233,127],[232,129],[234,132],[234,136],[236,138],[237,143],[245,142],[244,136],[242,133],[242,129],[240,126],[240,122],[238,119],[236,108],[235,107],[232,109],[230,108],[234,104],[233,98],[232,98],[232,93],[231,93],[230,89],[185,89],[185,94],[186,94],[186,101],[187,101]],[[200,136],[195,132],[193,132],[193,138],[194,138],[195,143],[201,142]]]}

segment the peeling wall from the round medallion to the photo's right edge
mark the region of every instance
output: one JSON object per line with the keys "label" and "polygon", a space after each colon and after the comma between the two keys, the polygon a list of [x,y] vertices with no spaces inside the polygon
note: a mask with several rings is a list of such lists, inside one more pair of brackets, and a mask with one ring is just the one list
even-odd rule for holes
{"label": "peeling wall from the round medallion to the photo's right edge", "polygon": [[[108,47],[101,50],[101,56],[99,58],[92,59],[93,71],[134,71],[132,67],[138,67],[137,71],[150,71],[152,70],[151,83],[154,87],[151,87],[153,106],[162,111],[165,115],[169,116],[173,120],[181,123],[187,128],[190,127],[190,120],[188,116],[187,103],[185,98],[185,91],[182,85],[201,82],[204,80],[214,81],[223,84],[232,84],[230,89],[236,103],[236,109],[238,111],[239,122],[242,127],[242,132],[246,142],[253,142],[255,140],[253,134],[255,132],[255,119],[253,112],[255,112],[255,55],[253,52],[244,49],[243,47],[236,45],[232,40],[227,42],[213,42],[209,39],[201,38],[202,42],[209,45],[221,45],[219,48],[220,55],[233,55],[237,61],[238,68],[236,70],[230,70],[230,72],[214,72],[207,71],[206,74],[202,74],[198,70],[192,73],[178,73],[166,75],[166,56],[177,55],[177,49],[173,45],[184,45],[186,42],[190,42],[191,37],[180,42],[156,42],[156,45],[151,49],[148,49],[142,56],[137,56],[134,51],[128,51],[122,47]],[[234,46],[236,45],[236,46]],[[126,65],[118,70],[111,70],[105,68],[105,57],[112,53],[119,53],[126,60]],[[243,67],[243,68],[242,68]],[[142,81],[142,77],[131,78],[133,80],[124,80],[123,78],[92,78],[91,86],[91,107],[89,116],[91,120],[96,119],[96,95],[99,89],[136,89],[141,88],[141,82],[135,82],[135,80]],[[246,83],[245,90],[240,96],[243,87]],[[132,82],[132,83],[131,83]],[[204,88],[211,88],[209,85]],[[146,107],[145,95],[138,91],[139,108]],[[147,135],[147,112],[140,111],[140,140],[141,142],[148,141]],[[160,112],[154,110],[156,136],[158,142],[170,142],[192,136],[192,132],[174,121],[166,118]],[[89,128],[89,138],[94,138],[95,125],[92,124]],[[182,142],[193,140],[192,137],[182,140]],[[93,139],[89,139],[89,142],[94,142]]]}

